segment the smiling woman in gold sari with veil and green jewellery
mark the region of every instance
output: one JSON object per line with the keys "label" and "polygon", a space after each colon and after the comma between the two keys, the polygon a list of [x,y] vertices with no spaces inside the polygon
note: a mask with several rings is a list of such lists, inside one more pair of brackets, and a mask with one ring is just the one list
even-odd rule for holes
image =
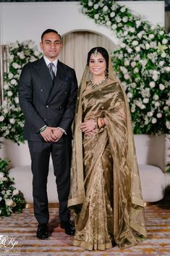
{"label": "smiling woman in gold sari with veil and green jewellery", "polygon": [[69,207],[75,246],[125,248],[146,237],[127,97],[102,47],[89,51],[80,84]]}

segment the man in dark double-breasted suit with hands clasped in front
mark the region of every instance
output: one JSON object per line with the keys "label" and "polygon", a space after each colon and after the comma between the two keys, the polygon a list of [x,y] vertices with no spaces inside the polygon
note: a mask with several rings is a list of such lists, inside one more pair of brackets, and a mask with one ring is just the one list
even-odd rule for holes
{"label": "man in dark double-breasted suit with hands clasped in front", "polygon": [[59,196],[61,228],[75,234],[67,208],[72,120],[75,115],[77,78],[75,70],[59,62],[61,36],[48,29],[41,36],[43,57],[22,69],[19,84],[20,107],[25,115],[24,139],[28,141],[33,172],[33,200],[38,220],[37,237],[48,238],[48,165],[52,157]]}

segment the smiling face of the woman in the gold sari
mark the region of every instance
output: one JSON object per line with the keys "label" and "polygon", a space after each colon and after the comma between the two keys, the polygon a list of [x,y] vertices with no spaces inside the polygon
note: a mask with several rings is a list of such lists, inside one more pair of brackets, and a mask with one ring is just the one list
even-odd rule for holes
{"label": "smiling face of the woman in the gold sari", "polygon": [[98,52],[97,56],[91,54],[89,68],[92,75],[105,76],[106,60],[103,58],[100,52]]}

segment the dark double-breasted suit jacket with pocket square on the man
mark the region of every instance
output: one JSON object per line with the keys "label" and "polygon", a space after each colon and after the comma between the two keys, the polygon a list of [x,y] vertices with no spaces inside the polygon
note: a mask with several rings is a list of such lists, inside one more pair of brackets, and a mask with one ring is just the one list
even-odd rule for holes
{"label": "dark double-breasted suit jacket with pocket square on the man", "polygon": [[61,127],[71,136],[76,95],[77,78],[71,67],[58,61],[53,83],[43,57],[25,65],[19,86],[20,107],[25,115],[24,139],[43,141],[39,130],[44,125]]}

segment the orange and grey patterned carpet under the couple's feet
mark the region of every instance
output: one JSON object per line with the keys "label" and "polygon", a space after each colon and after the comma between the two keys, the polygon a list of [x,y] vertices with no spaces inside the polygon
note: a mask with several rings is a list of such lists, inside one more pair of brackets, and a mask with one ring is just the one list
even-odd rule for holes
{"label": "orange and grey patterned carpet under the couple's feet", "polygon": [[145,207],[148,239],[129,249],[113,247],[88,252],[72,246],[72,237],[59,227],[58,208],[50,208],[51,236],[36,239],[33,209],[1,218],[0,256],[170,256],[170,201],[168,198]]}

